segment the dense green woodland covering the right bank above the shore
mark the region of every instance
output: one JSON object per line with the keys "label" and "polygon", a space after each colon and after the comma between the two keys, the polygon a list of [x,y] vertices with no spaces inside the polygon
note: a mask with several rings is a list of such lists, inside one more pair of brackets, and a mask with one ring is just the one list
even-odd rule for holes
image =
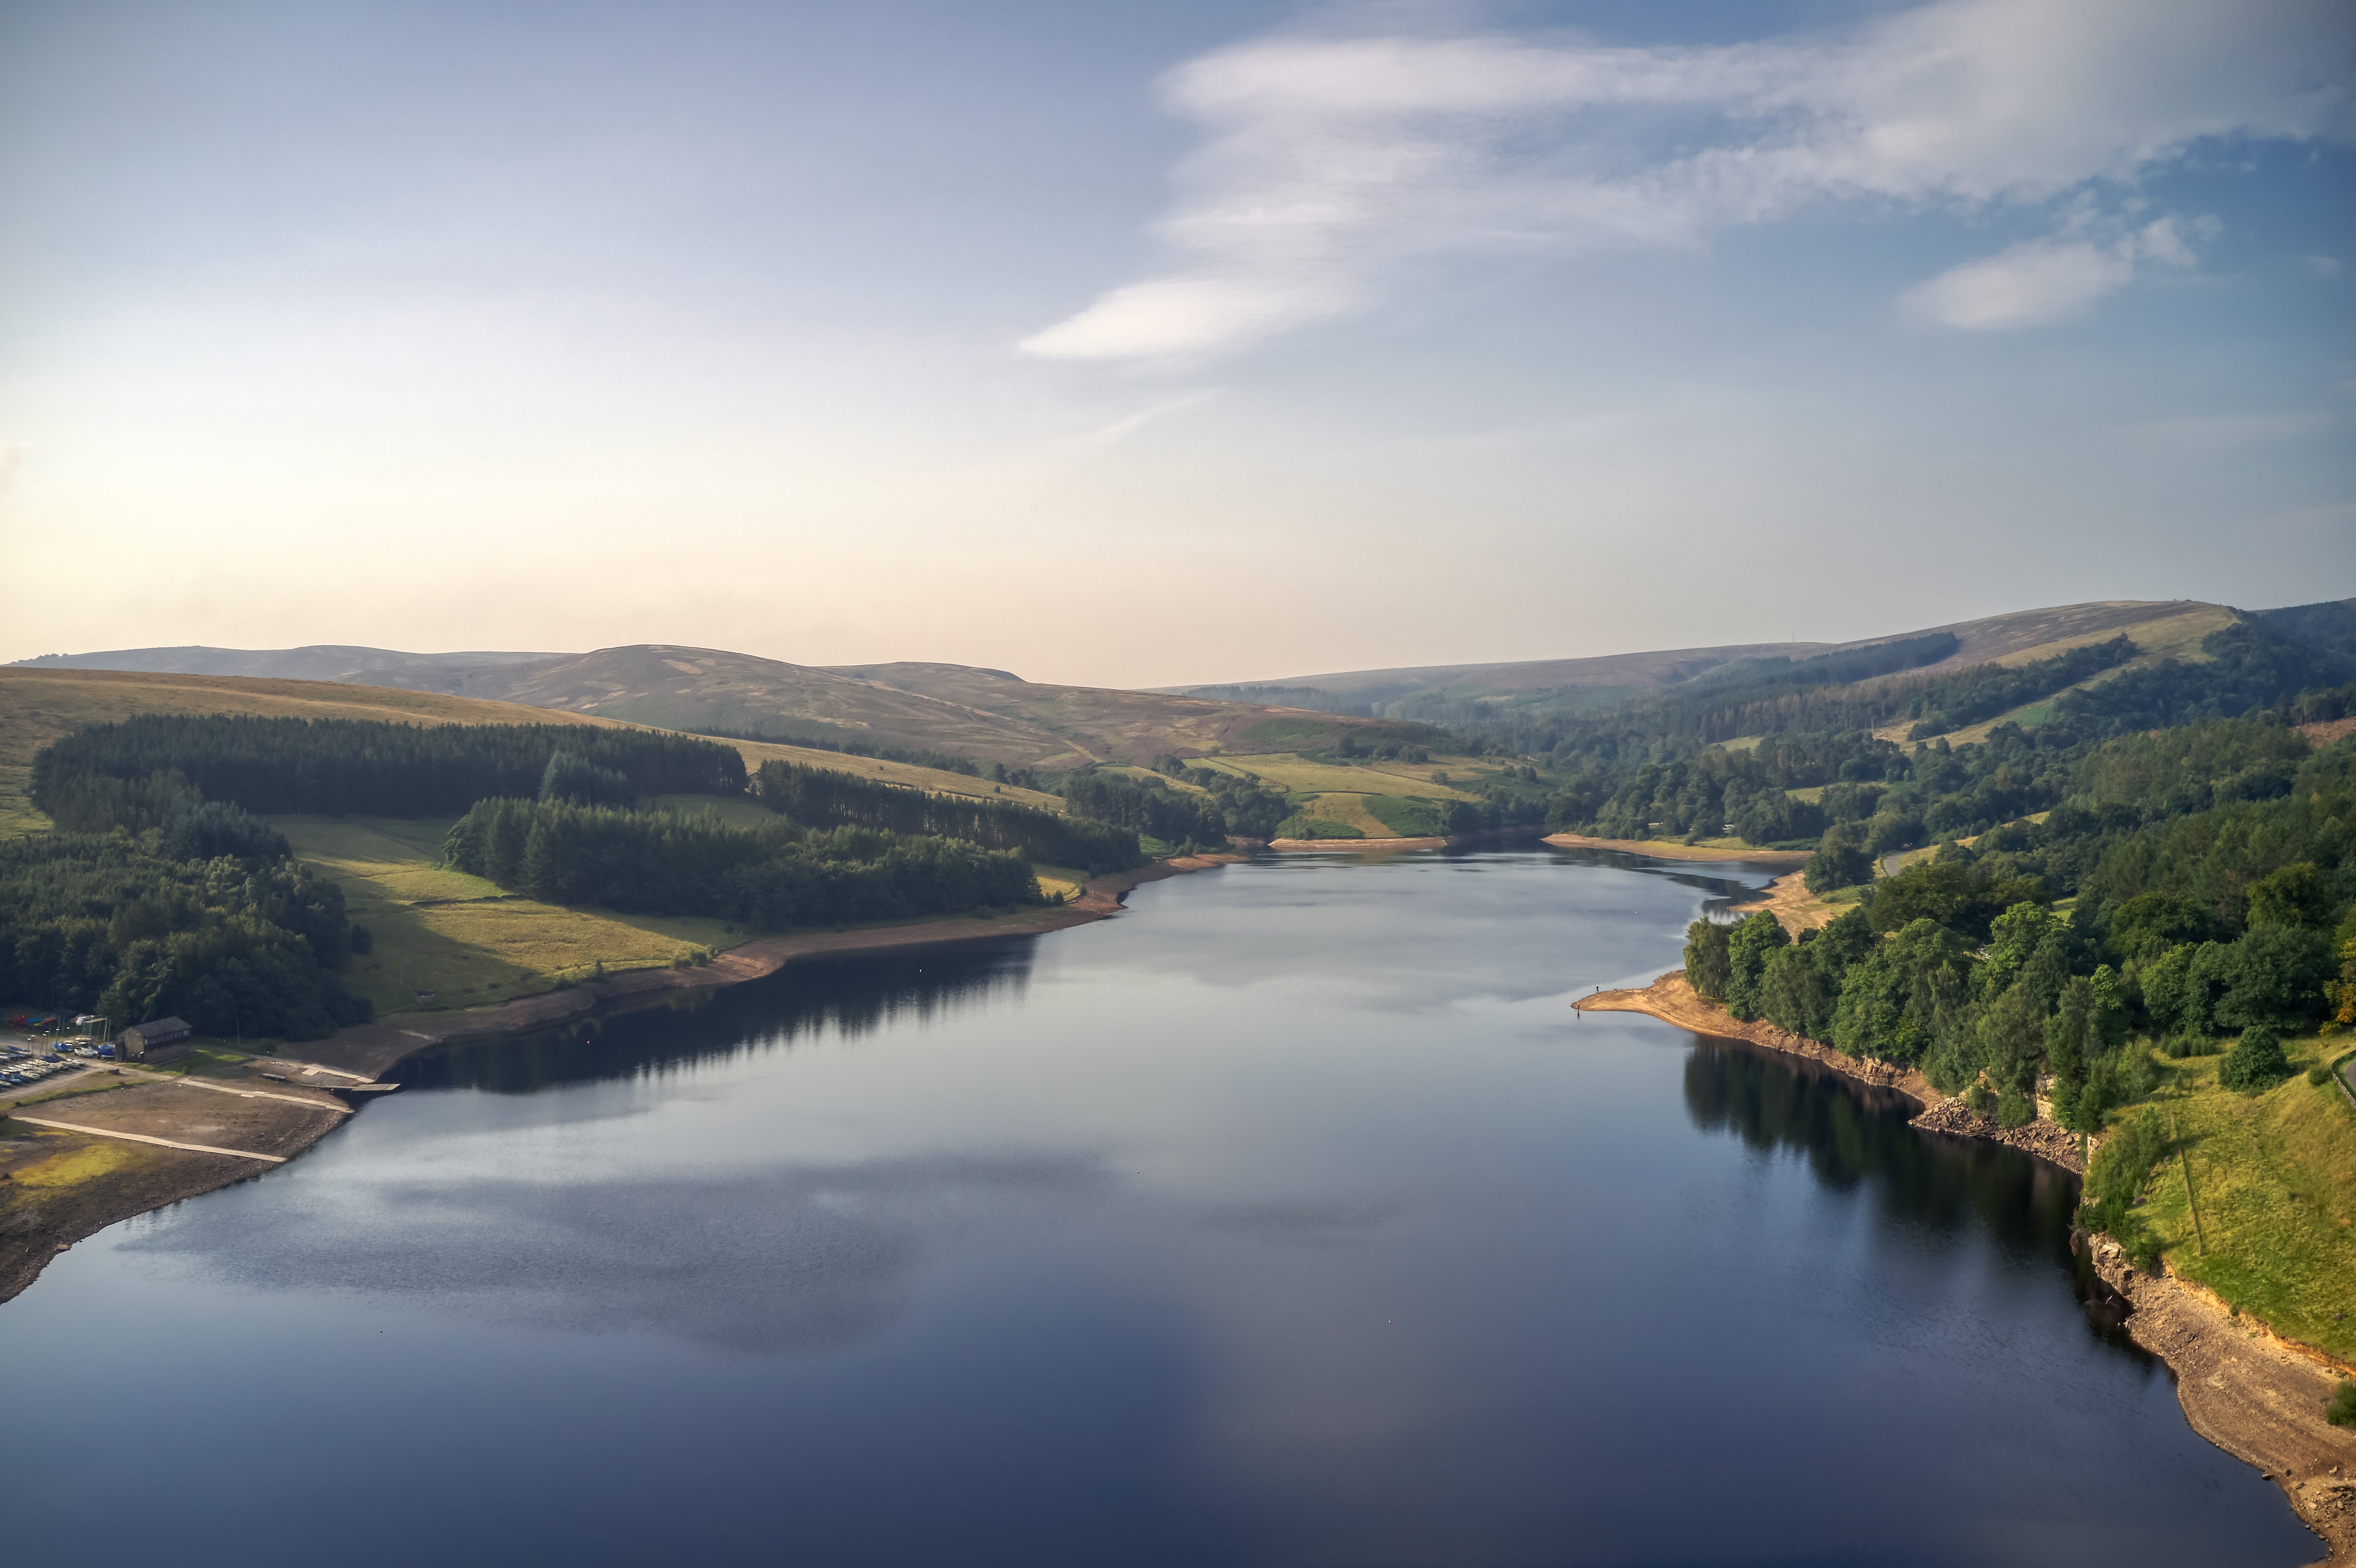
{"label": "dense green woodland covering the right bank above the shore", "polygon": [[2151,1090],[2135,1034],[2168,1055],[2236,1036],[2219,1078],[2262,1088],[2288,1074],[2283,1034],[2356,1022],[2351,824],[2356,739],[2132,735],[2083,756],[2043,824],[1946,845],[1824,930],[1696,921],[1687,979],[1736,1017],[1915,1064],[1998,1121],[2029,1121],[2050,1074],[2057,1118],[2087,1132]]}

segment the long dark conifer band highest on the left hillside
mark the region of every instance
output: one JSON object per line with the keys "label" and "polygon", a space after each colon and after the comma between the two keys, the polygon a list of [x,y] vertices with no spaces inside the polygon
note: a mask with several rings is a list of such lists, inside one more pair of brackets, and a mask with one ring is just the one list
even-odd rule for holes
{"label": "long dark conifer band highest on the left hillside", "polygon": [[177,777],[205,800],[264,815],[431,817],[537,793],[558,751],[641,796],[744,789],[735,746],[667,730],[141,713],[45,746],[33,803],[66,831],[104,831],[132,824],[153,779]]}

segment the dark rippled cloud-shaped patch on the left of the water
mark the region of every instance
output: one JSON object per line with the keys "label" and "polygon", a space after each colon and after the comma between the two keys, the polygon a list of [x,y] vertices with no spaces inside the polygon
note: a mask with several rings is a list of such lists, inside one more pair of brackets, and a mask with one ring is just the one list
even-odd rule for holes
{"label": "dark rippled cloud-shaped patch on the left of the water", "polygon": [[[127,1243],[214,1278],[353,1290],[481,1323],[648,1330],[749,1354],[839,1351],[902,1316],[926,1260],[1008,1208],[1055,1224],[1105,1163],[982,1151],[601,1182],[410,1177],[346,1205],[207,1205]],[[368,1224],[353,1224],[353,1212]],[[1053,1210],[1053,1212],[1041,1212]]]}

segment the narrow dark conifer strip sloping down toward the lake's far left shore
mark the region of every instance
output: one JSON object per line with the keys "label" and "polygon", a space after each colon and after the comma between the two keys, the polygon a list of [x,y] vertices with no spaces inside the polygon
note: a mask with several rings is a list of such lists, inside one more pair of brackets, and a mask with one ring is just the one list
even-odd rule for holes
{"label": "narrow dark conifer strip sloping down toward the lake's far left shore", "polygon": [[1088,822],[1018,800],[935,796],[907,784],[886,784],[832,768],[768,760],[754,775],[754,793],[768,810],[810,829],[862,826],[893,833],[966,838],[990,850],[1020,850],[1051,866],[1074,866],[1091,876],[1145,864],[1145,850],[1129,826]]}

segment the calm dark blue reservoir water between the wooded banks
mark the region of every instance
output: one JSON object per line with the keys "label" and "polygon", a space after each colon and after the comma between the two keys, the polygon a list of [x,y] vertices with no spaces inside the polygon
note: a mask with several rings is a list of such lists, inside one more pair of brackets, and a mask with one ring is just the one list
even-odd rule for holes
{"label": "calm dark blue reservoir water between the wooded banks", "polygon": [[410,1064],[0,1309],[12,1556],[2309,1561],[2066,1182],[1569,1012],[1758,881],[1286,857]]}

